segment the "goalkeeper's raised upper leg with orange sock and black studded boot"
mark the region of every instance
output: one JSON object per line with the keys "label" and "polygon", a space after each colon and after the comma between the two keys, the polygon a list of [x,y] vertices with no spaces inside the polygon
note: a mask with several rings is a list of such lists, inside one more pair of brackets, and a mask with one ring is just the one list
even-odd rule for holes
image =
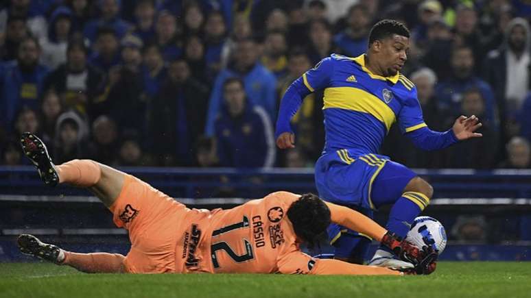
{"label": "goalkeeper's raised upper leg with orange sock and black studded boot", "polygon": [[21,136],[25,156],[36,166],[40,179],[48,186],[71,184],[91,190],[105,206],[110,207],[123,187],[126,174],[93,160],[71,160],[56,166],[51,162],[46,145],[34,134]]}

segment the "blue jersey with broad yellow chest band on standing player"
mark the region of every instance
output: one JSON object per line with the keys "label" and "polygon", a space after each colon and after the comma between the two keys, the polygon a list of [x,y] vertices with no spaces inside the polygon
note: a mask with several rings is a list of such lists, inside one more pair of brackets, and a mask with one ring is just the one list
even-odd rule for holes
{"label": "blue jersey with broad yellow chest band on standing player", "polygon": [[325,152],[348,148],[377,153],[394,122],[403,133],[426,126],[414,84],[400,73],[371,73],[365,55],[332,54],[302,79],[310,92],[325,89]]}

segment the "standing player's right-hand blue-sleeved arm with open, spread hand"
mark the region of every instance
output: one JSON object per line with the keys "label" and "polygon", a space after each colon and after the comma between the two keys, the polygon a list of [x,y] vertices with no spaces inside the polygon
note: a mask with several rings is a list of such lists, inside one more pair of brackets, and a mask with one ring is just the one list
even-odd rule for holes
{"label": "standing player's right-hand blue-sleeved arm with open, spread hand", "polygon": [[399,113],[399,125],[402,133],[408,136],[416,147],[426,151],[445,149],[460,140],[482,136],[475,132],[482,125],[476,116],[460,116],[446,132],[429,129],[424,123],[421,104],[416,99],[416,88],[411,92],[411,97],[405,101]]}

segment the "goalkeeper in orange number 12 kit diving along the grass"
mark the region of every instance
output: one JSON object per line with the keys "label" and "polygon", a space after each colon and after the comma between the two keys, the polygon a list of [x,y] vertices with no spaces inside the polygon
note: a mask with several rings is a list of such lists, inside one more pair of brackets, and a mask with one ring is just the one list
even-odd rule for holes
{"label": "goalkeeper in orange number 12 kit diving along the grass", "polygon": [[[436,253],[417,249],[349,208],[325,203],[316,195],[272,193],[229,210],[189,209],[140,179],[93,160],[55,166],[44,143],[33,134],[21,137],[25,156],[49,186],[71,184],[91,190],[128,230],[127,256],[74,253],[19,236],[21,251],[88,273],[285,273],[402,275],[429,274]],[[416,264],[395,271],[378,266],[318,260],[300,251],[337,223],[367,234]]]}

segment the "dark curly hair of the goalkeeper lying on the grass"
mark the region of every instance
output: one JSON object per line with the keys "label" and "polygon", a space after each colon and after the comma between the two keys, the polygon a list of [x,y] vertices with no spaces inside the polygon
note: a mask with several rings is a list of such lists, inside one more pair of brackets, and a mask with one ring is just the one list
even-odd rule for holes
{"label": "dark curly hair of the goalkeeper lying on the grass", "polygon": [[328,206],[312,193],[294,201],[287,210],[287,218],[292,222],[295,234],[309,247],[314,247],[320,238],[327,235],[327,227],[331,223]]}

